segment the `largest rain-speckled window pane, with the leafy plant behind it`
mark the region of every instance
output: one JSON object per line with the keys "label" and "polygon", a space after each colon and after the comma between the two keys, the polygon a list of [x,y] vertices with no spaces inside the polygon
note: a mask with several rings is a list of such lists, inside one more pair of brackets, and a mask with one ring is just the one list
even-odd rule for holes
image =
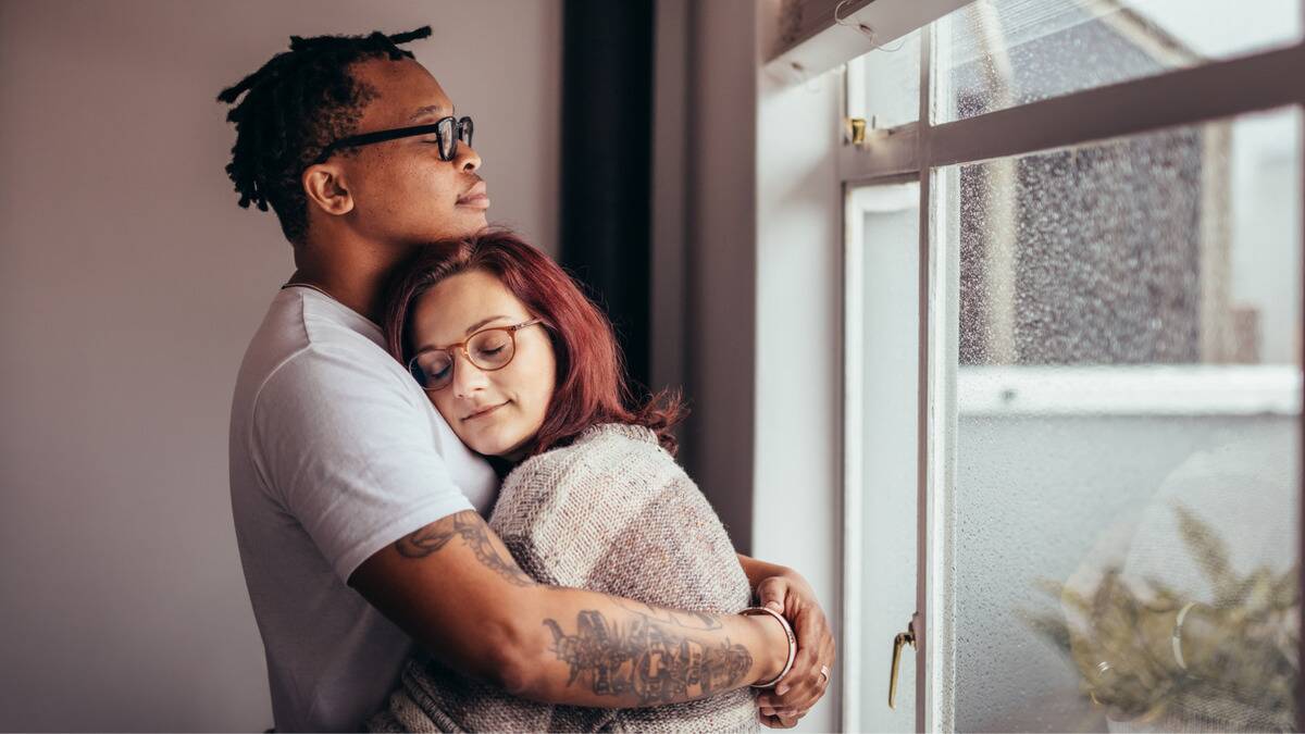
{"label": "largest rain-speckled window pane, with the leafy plant behind it", "polygon": [[957,730],[1295,727],[1300,140],[1288,108],[937,171]]}

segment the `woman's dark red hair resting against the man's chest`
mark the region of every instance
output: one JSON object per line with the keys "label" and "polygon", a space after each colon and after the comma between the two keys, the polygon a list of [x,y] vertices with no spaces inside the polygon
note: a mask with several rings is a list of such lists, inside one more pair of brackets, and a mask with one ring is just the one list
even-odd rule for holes
{"label": "woman's dark red hair resting against the man's chest", "polygon": [[679,396],[662,392],[638,404],[607,316],[557,263],[508,230],[482,230],[424,246],[399,268],[386,294],[384,325],[385,342],[399,363],[412,358],[416,299],[440,281],[474,270],[499,278],[531,315],[543,319],[553,343],[557,384],[530,455],[566,445],[599,423],[645,426],[675,453],[671,430],[684,415]]}

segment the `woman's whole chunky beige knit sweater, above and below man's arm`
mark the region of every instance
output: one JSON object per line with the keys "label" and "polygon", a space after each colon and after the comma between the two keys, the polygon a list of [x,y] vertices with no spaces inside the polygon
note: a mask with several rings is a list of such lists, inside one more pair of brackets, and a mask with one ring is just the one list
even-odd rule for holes
{"label": "woman's whole chunky beige knit sweater, above and below man's arm", "polygon": [[[489,528],[542,584],[716,614],[752,601],[706,498],[652,431],[603,424],[529,458],[504,481]],[[373,731],[756,731],[750,690],[650,708],[549,705],[509,696],[424,654],[403,666]]]}

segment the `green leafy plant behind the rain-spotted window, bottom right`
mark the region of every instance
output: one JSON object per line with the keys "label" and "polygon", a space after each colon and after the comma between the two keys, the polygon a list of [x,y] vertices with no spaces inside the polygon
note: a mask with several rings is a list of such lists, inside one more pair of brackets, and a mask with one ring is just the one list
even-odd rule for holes
{"label": "green leafy plant behind the rain-spotted window, bottom right", "polygon": [[1208,598],[1111,566],[1098,569],[1091,589],[1039,580],[1060,609],[1018,614],[1074,663],[1082,694],[1111,718],[1293,730],[1300,563],[1238,573],[1210,524],[1182,505],[1173,512],[1186,552],[1208,581]]}

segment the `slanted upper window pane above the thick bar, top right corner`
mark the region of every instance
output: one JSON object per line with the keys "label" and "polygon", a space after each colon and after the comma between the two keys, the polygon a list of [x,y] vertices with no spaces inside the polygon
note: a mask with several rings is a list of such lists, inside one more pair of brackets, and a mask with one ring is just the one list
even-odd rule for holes
{"label": "slanted upper window pane above the thick bar, top right corner", "polygon": [[1301,38],[1300,0],[977,0],[940,22],[938,121]]}

